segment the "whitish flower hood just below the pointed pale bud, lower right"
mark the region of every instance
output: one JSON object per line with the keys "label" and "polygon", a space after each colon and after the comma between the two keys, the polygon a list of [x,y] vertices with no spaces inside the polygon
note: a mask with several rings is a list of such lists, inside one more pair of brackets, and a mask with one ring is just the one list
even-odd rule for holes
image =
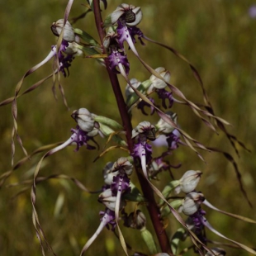
{"label": "whitish flower hood just below the pointed pale bud, lower right", "polygon": [[191,192],[184,198],[183,205],[180,207],[180,211],[187,216],[192,216],[196,213],[205,197],[202,193]]}

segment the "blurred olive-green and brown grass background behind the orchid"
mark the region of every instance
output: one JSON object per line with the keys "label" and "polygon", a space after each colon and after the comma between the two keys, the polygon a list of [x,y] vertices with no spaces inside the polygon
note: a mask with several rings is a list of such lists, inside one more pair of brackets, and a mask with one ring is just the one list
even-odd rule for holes
{"label": "blurred olive-green and brown grass background behind the orchid", "polygon": [[[50,25],[64,16],[67,2],[0,1],[1,101],[13,95],[17,82],[26,70],[44,59],[50,51],[50,46],[55,45],[55,36],[50,31]],[[75,1],[70,17],[77,17],[82,13],[85,2]],[[109,7],[107,12],[103,12],[103,16],[106,17],[120,3],[117,0],[108,0]],[[233,126],[228,127],[228,130],[251,149],[251,153],[239,149],[238,158],[225,135],[221,132],[220,135],[214,134],[187,107],[174,107],[173,110],[178,112],[178,121],[183,130],[204,145],[228,151],[234,156],[254,209],[249,208],[244,200],[239,191],[234,168],[221,154],[201,152],[206,159],[207,164],[204,164],[191,150],[180,147],[169,159],[173,164],[183,164],[182,168],[173,170],[175,177],[181,177],[187,169],[201,169],[204,174],[198,189],[205,194],[208,201],[224,211],[256,219],[256,19],[249,17],[248,12],[255,1],[137,0],[130,3],[142,8],[144,19],[140,23],[140,29],[145,36],[173,46],[197,67],[216,115],[229,121]],[[75,26],[97,38],[92,13],[85,20],[78,21]],[[145,47],[139,43],[136,45],[142,58],[153,68],[164,66],[170,70],[171,83],[180,88],[190,100],[202,102],[201,89],[188,65],[167,50],[149,42],[145,43]],[[131,53],[129,60],[130,78],[136,77],[141,81],[149,78],[149,73]],[[50,72],[51,63],[45,64],[25,79],[23,87],[28,88]],[[102,116],[118,116],[107,73],[93,59],[76,58],[70,69],[69,78],[61,78],[61,83],[70,111],[64,107],[59,92],[59,100],[55,101],[50,80],[18,100],[19,130],[28,152],[41,145],[68,139],[70,128],[75,126],[70,114],[79,107],[87,107],[88,110]],[[121,84],[125,87],[126,83],[121,79]],[[11,107],[1,107],[0,113],[0,172],[4,173],[11,168]],[[135,120],[140,121],[140,116],[136,115]],[[119,117],[117,121],[120,121]],[[72,147],[64,149],[45,159],[40,175],[64,173],[78,178],[89,189],[97,190],[102,185],[102,167],[107,161],[115,161],[116,154],[120,153],[107,154],[96,164],[92,164],[97,154],[99,152],[83,148],[78,153],[74,153]],[[17,145],[15,160],[22,157],[21,149]],[[38,160],[39,156],[36,156],[17,169],[5,185],[31,178]],[[164,179],[163,176],[159,184],[161,181],[164,182]],[[30,189],[12,198],[24,186],[4,186],[0,192],[0,251],[4,256],[41,255],[40,244],[31,221]],[[59,209],[56,208],[57,201],[60,204],[63,201]],[[41,225],[57,255],[78,255],[83,244],[97,229],[98,211],[104,208],[97,203],[97,195],[81,192],[73,183],[64,180],[50,180],[39,184],[36,206]],[[208,209],[206,211],[208,220],[216,230],[231,239],[256,247],[254,225],[233,220]],[[175,226],[177,224],[174,222],[169,223],[170,234]],[[135,249],[140,250],[140,243],[142,248],[145,248],[139,232],[134,233],[135,235],[131,236],[130,230],[124,230],[127,242],[131,245],[135,242]],[[207,231],[207,235],[210,239],[221,241],[210,231]],[[249,255],[241,250],[226,250],[228,255]],[[121,246],[116,237],[104,230],[86,255],[121,254]],[[192,255],[192,252],[187,255]]]}

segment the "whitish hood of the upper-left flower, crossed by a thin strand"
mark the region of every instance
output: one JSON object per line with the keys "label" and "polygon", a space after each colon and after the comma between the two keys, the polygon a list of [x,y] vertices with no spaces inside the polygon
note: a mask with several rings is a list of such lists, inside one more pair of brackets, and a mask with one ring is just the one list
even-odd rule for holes
{"label": "whitish hood of the upper-left flower, crossed by a thin strand", "polygon": [[[59,21],[54,22],[50,28],[55,36],[59,36],[63,29],[63,26],[64,26],[64,19],[60,19]],[[63,39],[68,42],[73,42],[75,39],[73,27],[71,26],[69,21],[66,21],[66,24],[64,26]]]}

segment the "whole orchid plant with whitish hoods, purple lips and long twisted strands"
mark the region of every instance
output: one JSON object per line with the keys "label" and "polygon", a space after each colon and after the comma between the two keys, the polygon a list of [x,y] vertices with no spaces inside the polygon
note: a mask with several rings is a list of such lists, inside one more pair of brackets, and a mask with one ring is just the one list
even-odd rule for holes
{"label": "whole orchid plant with whitish hoods, purple lips and long twisted strands", "polygon": [[[102,3],[106,9],[107,1],[102,1]],[[121,3],[119,7],[116,7],[116,10],[107,16],[105,21],[102,21],[100,1],[88,1],[88,12],[94,13],[95,24],[100,37],[99,43],[97,40],[93,39],[92,36],[88,35],[87,32],[73,28],[68,20],[72,5],[73,1],[69,0],[64,18],[55,21],[51,26],[54,35],[58,37],[56,45],[50,46],[50,52],[45,59],[24,74],[17,84],[15,96],[0,103],[0,106],[12,103],[12,116],[14,121],[12,140],[14,140],[14,136],[17,135],[18,142],[26,153],[26,149],[24,149],[22,145],[17,129],[17,98],[27,92],[33,91],[50,77],[54,78],[54,83],[58,80],[59,88],[62,91],[63,88],[60,86],[59,82],[60,74],[63,74],[64,77],[69,75],[69,69],[72,69],[71,64],[77,56],[88,56],[90,59],[96,59],[99,64],[106,67],[111,86],[116,99],[118,99],[117,106],[121,114],[122,124],[119,124],[117,121],[107,116],[100,116],[100,113],[94,114],[85,107],[78,108],[78,110],[73,111],[71,115],[76,125],[71,129],[71,135],[66,141],[37,149],[37,151],[27,156],[26,159],[19,161],[10,172],[2,175],[1,185],[12,174],[12,171],[21,164],[24,164],[30,156],[32,157],[34,154],[48,150],[36,166],[31,187],[33,224],[36,228],[36,235],[40,240],[42,254],[45,255],[45,244],[52,254],[55,253],[46,239],[36,211],[36,184],[45,180],[40,179],[39,176],[41,164],[46,157],[56,154],[59,150],[67,146],[75,145],[74,151],[78,151],[82,146],[85,146],[89,150],[99,149],[97,140],[105,140],[106,145],[112,140],[116,144],[115,146],[104,149],[97,158],[115,149],[121,149],[123,156],[118,159],[111,159],[111,162],[108,162],[104,167],[98,168],[99,175],[102,175],[103,181],[98,197],[98,201],[103,205],[102,211],[99,213],[101,218],[97,230],[92,234],[91,238],[88,239],[87,243],[84,244],[80,255],[86,253],[92,242],[97,239],[97,235],[99,235],[105,227],[108,229],[111,227],[112,231],[118,231],[121,246],[126,255],[180,255],[189,249],[182,249],[181,245],[182,241],[187,238],[191,239],[192,246],[190,248],[194,249],[197,254],[206,256],[225,255],[224,249],[208,246],[210,240],[207,239],[206,228],[221,238],[227,239],[232,244],[235,244],[237,248],[244,249],[251,254],[256,254],[254,249],[250,249],[244,244],[229,239],[214,229],[206,219],[206,210],[203,207],[208,206],[222,214],[250,223],[255,224],[255,220],[228,213],[218,209],[216,206],[212,206],[211,203],[206,200],[203,193],[197,191],[197,185],[202,175],[201,171],[187,170],[182,178],[174,178],[173,169],[178,168],[179,172],[181,172],[182,169],[182,164],[170,163],[171,158],[169,156],[173,155],[175,150],[180,149],[182,146],[189,146],[192,150],[197,152],[197,155],[201,157],[201,159],[202,156],[198,153],[197,149],[210,150],[209,147],[193,139],[178,125],[178,116],[171,111],[174,104],[183,104],[190,107],[196,116],[201,118],[201,120],[206,123],[206,126],[209,126],[214,131],[216,131],[216,127],[209,121],[209,117],[211,120],[215,120],[217,126],[220,130],[225,132],[225,135],[227,135],[234,147],[235,143],[239,143],[239,145],[244,147],[234,135],[230,135],[225,130],[225,125],[228,125],[228,122],[214,115],[214,111],[206,95],[197,69],[176,50],[149,39],[149,37],[145,36],[144,33],[140,31],[138,27],[142,20],[142,10],[140,7]],[[139,40],[142,45],[145,45],[144,40],[161,45],[187,62],[201,85],[206,104],[206,106],[204,106],[205,108],[199,107],[197,104],[189,101],[183,92],[170,83],[171,74],[168,69],[164,67],[156,67],[153,69],[144,59],[141,59],[135,47],[136,40]],[[127,57],[127,51],[129,50],[139,59],[140,63],[143,64],[145,70],[149,71],[150,75],[147,80],[140,82],[136,78],[130,78],[130,63]],[[35,72],[36,69],[39,69],[40,66],[51,59],[54,61],[52,73],[32,85],[31,88],[20,93],[24,78]],[[88,59],[88,61],[91,60]],[[118,78],[124,78],[126,80],[126,100],[121,94]],[[130,117],[135,107],[141,111],[142,118],[135,127],[132,127]],[[148,115],[159,115],[159,121],[155,124],[150,123],[146,120]],[[182,118],[182,116],[180,118]],[[158,156],[154,156],[154,148],[159,145],[164,146],[164,152]],[[218,149],[212,150],[227,154]],[[14,142],[12,142],[13,156],[14,152],[15,147]],[[232,161],[232,157],[230,154],[228,155],[228,159]],[[159,188],[156,187],[154,180],[160,179],[161,173],[167,171],[170,173],[170,180],[164,189],[160,191]],[[236,171],[238,172],[238,170]],[[130,177],[134,177],[135,175],[137,175],[136,177],[139,180],[140,188],[136,187],[130,180]],[[62,178],[64,177],[66,178],[67,176],[63,176]],[[59,176],[59,178],[61,177]],[[79,183],[78,180],[74,178],[70,179],[84,191],[90,192],[83,184]],[[239,183],[242,191],[244,191],[240,181]],[[158,201],[154,199],[154,193],[158,196]],[[179,193],[182,193],[182,195],[177,196]],[[244,195],[246,196],[245,193]],[[130,202],[136,202],[136,209],[128,213],[126,212],[126,206],[129,205]],[[153,220],[154,232],[158,243],[154,240],[154,235],[147,229],[147,220],[143,213],[145,207],[137,209],[140,205],[146,205],[149,211],[149,216],[151,220]],[[178,220],[181,227],[176,233],[173,233],[173,237],[169,241],[167,230],[164,227],[164,220],[173,216]],[[139,253],[140,248],[135,248],[132,245],[130,246],[130,244],[127,246],[126,238],[121,232],[121,222],[123,222],[124,226],[127,228],[140,230],[140,234],[148,247],[148,252],[142,254]]]}

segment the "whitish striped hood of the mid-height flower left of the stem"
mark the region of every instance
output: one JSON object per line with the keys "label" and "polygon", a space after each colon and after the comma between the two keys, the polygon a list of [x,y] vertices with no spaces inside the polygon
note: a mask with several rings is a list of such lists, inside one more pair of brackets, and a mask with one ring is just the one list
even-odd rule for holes
{"label": "whitish striped hood of the mid-height flower left of the stem", "polygon": [[95,121],[92,118],[92,114],[86,108],[79,108],[76,111],[73,111],[73,119],[78,123],[78,126],[81,130],[90,132],[93,130]]}

